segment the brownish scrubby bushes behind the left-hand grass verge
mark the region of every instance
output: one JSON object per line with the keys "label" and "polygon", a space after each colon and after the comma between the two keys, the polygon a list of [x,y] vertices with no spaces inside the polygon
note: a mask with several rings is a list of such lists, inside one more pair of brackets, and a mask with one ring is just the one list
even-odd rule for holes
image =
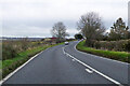
{"label": "brownish scrubby bushes behind the left-hand grass verge", "polygon": [[2,60],[15,58],[18,53],[42,46],[40,42],[22,41],[3,41],[2,42]]}

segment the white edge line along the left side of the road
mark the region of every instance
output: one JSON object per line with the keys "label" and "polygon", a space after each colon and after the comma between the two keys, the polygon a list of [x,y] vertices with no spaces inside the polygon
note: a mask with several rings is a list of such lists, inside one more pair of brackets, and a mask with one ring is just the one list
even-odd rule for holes
{"label": "white edge line along the left side of the road", "polygon": [[[50,47],[49,47],[50,48]],[[47,48],[47,49],[49,49]],[[47,51],[44,49],[44,51]],[[5,81],[8,81],[11,76],[13,76],[13,74],[15,74],[18,70],[21,70],[22,68],[24,68],[27,63],[29,63],[32,59],[35,59],[38,55],[40,55],[41,53],[43,53],[44,51],[36,54],[35,56],[30,57],[29,60],[27,60],[25,63],[23,63],[21,67],[18,67],[17,69],[15,69],[13,72],[11,72],[10,74],[8,74],[4,78],[2,78],[0,81],[0,86],[2,85],[2,83],[4,83]]]}

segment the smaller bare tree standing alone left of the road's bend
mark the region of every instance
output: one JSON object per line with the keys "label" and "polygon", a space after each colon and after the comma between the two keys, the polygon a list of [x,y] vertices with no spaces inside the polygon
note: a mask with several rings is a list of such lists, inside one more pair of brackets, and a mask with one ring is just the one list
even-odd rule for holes
{"label": "smaller bare tree standing alone left of the road's bend", "polygon": [[66,27],[62,22],[54,24],[53,29],[51,30],[53,37],[57,38],[57,41],[62,41],[65,37],[69,34],[66,32]]}

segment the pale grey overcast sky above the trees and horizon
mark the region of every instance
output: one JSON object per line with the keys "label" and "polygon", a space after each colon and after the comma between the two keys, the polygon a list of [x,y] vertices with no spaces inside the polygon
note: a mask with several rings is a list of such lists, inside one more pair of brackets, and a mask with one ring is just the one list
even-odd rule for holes
{"label": "pale grey overcast sky above the trees and horizon", "polygon": [[[88,12],[96,12],[108,29],[122,17],[128,23],[129,0],[0,0],[4,37],[51,37],[50,30],[63,22],[67,32],[77,33],[76,23]],[[1,23],[0,23],[1,24]]]}

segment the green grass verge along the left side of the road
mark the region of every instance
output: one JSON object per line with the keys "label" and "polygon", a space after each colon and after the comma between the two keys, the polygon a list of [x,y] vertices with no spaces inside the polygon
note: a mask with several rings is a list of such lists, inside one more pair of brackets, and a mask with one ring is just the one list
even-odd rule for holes
{"label": "green grass verge along the left side of the road", "polygon": [[11,73],[16,68],[18,68],[24,62],[26,62],[28,59],[30,59],[34,55],[36,55],[36,54],[40,53],[41,51],[44,51],[49,47],[53,47],[53,46],[56,46],[60,44],[63,44],[63,43],[58,43],[58,44],[54,44],[54,45],[38,46],[35,48],[22,52],[12,59],[0,61],[0,62],[2,62],[2,64],[0,66],[0,70],[2,70],[2,77],[5,77],[9,73]]}

